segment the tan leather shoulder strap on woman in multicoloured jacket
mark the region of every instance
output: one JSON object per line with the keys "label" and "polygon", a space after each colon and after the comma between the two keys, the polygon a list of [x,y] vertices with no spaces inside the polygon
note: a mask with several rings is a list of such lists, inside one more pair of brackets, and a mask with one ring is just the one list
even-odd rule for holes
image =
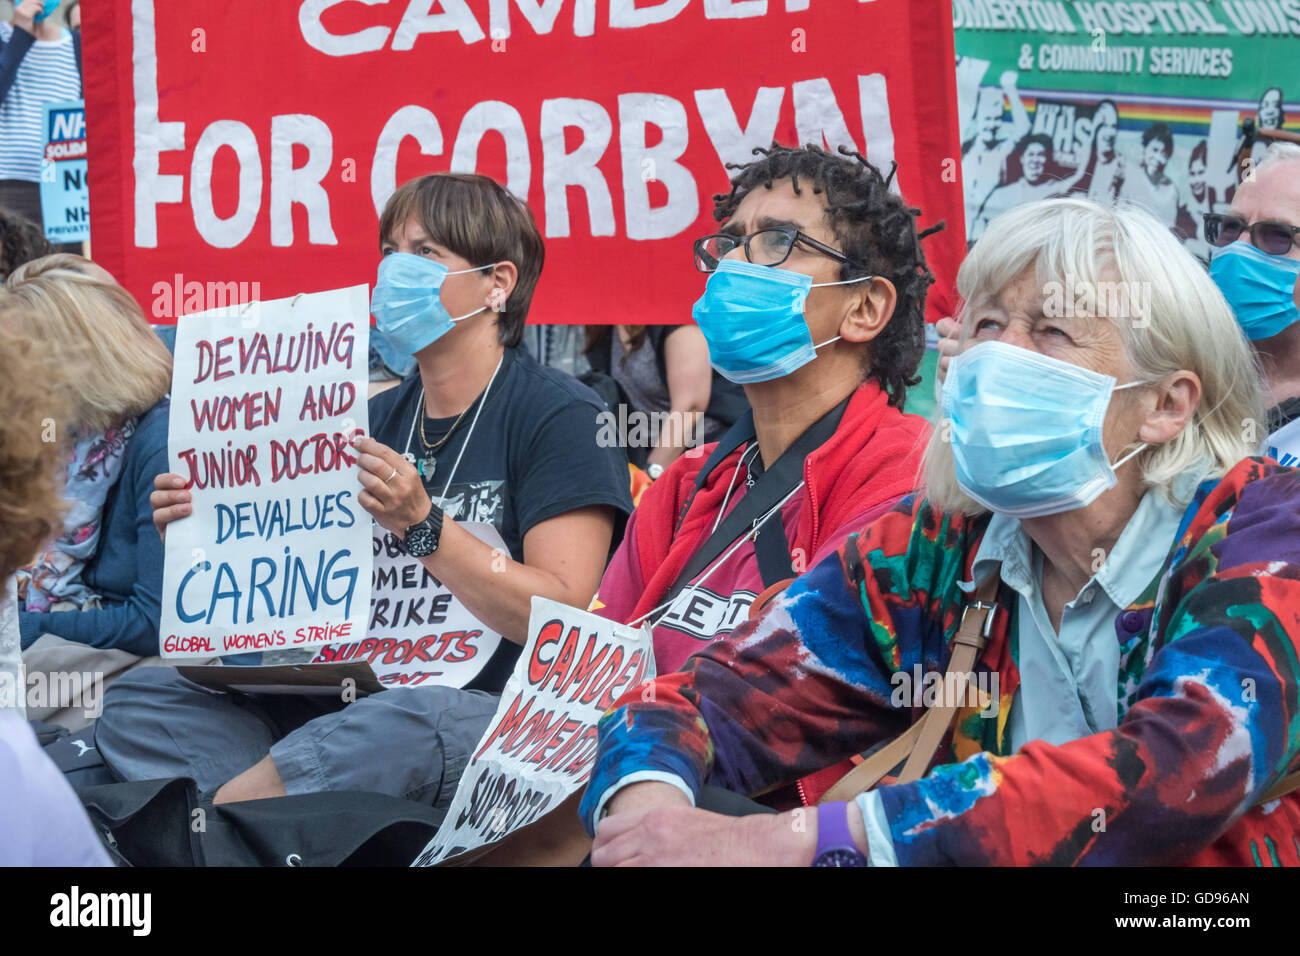
{"label": "tan leather shoulder strap on woman in multicoloured jacket", "polygon": [[[904,760],[906,763],[904,763],[898,782],[911,783],[920,779],[935,758],[944,732],[961,710],[971,669],[992,633],[998,580],[997,571],[991,574],[980,584],[975,600],[967,604],[962,611],[962,622],[953,636],[953,653],[948,659],[948,671],[944,675],[945,691],[952,685],[956,692],[952,696],[945,692],[944,702],[940,706],[927,710],[907,730],[872,752],[864,761],[840,778],[840,782],[826,792],[820,803],[852,800],[858,793],[864,793],[880,783]],[[950,684],[949,678],[953,678],[956,684]]]}

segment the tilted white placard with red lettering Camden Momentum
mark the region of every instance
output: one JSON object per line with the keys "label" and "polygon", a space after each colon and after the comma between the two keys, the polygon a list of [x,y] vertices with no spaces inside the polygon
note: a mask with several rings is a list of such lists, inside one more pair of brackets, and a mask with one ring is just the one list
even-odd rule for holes
{"label": "tilted white placard with red lettering Camden Momentum", "polygon": [[533,597],[528,644],[497,715],[413,865],[495,843],[564,803],[592,774],[601,714],[653,676],[645,631]]}

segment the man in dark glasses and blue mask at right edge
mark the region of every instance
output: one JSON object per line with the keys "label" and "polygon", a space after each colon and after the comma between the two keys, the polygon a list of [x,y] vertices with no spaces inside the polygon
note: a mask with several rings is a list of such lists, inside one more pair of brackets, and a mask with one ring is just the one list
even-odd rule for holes
{"label": "man in dark glasses and blue mask at right edge", "polygon": [[1269,378],[1264,453],[1300,466],[1300,146],[1270,146],[1228,212],[1204,220],[1210,276]]}

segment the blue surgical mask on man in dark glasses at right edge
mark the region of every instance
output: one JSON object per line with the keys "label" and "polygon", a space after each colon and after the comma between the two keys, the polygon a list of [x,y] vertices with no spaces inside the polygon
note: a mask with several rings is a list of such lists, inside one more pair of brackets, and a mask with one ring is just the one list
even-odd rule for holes
{"label": "blue surgical mask on man in dark glasses at right edge", "polygon": [[1300,321],[1295,299],[1300,260],[1269,255],[1248,242],[1234,242],[1214,250],[1210,277],[1251,341],[1270,338]]}

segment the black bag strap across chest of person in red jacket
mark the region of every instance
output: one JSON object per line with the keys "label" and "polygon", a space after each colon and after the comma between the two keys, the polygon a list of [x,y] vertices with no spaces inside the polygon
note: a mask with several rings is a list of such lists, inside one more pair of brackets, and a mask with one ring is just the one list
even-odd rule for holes
{"label": "black bag strap across chest of person in red jacket", "polygon": [[[762,528],[755,529],[753,527],[754,522],[771,511],[779,501],[785,498],[803,480],[803,459],[822,447],[835,434],[835,431],[840,427],[840,420],[844,418],[844,410],[849,407],[849,398],[845,398],[840,405],[809,425],[803,434],[796,438],[794,444],[785,449],[781,457],[776,459],[776,463],[759,475],[754,486],[745,493],[745,497],[740,499],[736,507],[722,520],[722,524],[708,536],[708,540],[690,557],[686,567],[677,575],[677,580],[672,583],[672,587],[668,588],[663,600],[658,604],[673,601],[686,584],[698,578],[741,535],[753,531],[762,532]],[[749,437],[746,437],[746,433]],[[718,447],[714,449],[708,460],[705,462],[705,467],[699,470],[699,475],[696,476],[697,492],[703,486],[710,472],[727,455],[749,441],[753,433],[754,412],[750,411],[723,436],[723,440],[718,442]],[[693,501],[694,496],[692,496]],[[689,507],[688,505],[686,510]],[[759,574],[766,585],[792,576],[789,541],[785,537],[785,528],[780,522],[780,516],[776,516],[776,522],[766,525],[767,541],[760,546],[758,541],[764,536],[763,533],[758,533],[754,542],[755,554],[759,561]],[[784,554],[779,555],[777,548],[784,550]],[[771,580],[768,580],[770,576]]]}

